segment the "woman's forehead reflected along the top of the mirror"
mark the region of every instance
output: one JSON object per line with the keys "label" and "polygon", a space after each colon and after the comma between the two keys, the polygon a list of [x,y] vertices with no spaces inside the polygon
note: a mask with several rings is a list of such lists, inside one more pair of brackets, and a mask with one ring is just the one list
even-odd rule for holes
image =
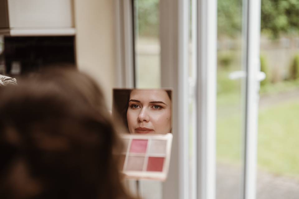
{"label": "woman's forehead reflected along the top of the mirror", "polygon": [[139,101],[163,101],[170,102],[170,99],[165,90],[132,90],[130,99]]}

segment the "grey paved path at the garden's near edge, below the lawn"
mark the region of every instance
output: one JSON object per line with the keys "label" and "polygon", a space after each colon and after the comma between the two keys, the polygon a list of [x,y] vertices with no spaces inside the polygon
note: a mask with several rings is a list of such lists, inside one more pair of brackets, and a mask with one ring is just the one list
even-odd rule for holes
{"label": "grey paved path at the garden's near edge, below the lawn", "polygon": [[[217,163],[217,199],[240,198],[240,166]],[[258,171],[257,199],[298,199],[299,179]]]}

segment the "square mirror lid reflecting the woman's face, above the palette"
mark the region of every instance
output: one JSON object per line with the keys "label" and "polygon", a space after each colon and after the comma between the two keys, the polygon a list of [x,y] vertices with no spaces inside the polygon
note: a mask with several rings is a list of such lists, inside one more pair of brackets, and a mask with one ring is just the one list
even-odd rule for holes
{"label": "square mirror lid reflecting the woman's face, above the palette", "polygon": [[112,117],[130,134],[170,133],[172,90],[113,89]]}

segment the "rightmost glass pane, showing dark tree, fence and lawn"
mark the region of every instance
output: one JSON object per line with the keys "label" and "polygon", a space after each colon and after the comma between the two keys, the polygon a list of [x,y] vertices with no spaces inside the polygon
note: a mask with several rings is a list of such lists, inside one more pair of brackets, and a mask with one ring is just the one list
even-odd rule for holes
{"label": "rightmost glass pane, showing dark tree, fence and lawn", "polygon": [[298,13],[297,1],[262,1],[258,199],[299,197]]}

